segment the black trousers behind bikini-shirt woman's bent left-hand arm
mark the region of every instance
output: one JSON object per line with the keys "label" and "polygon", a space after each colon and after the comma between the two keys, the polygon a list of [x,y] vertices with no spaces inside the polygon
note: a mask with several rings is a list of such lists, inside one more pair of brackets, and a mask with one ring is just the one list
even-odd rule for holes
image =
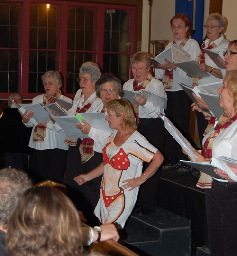
{"label": "black trousers behind bikini-shirt woman's bent left-hand arm", "polygon": [[98,219],[93,211],[100,198],[102,175],[83,185],[78,185],[73,179],[98,167],[103,158],[101,153],[94,152],[94,156],[82,164],[79,151],[80,144],[81,140],[78,139],[76,146],[69,146],[64,183],[67,187],[67,196],[73,201],[77,209],[83,212],[87,224],[96,226]]}

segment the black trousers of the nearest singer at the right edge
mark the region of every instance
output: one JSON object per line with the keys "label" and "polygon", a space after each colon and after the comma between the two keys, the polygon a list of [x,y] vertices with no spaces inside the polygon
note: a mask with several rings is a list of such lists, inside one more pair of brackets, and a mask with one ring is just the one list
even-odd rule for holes
{"label": "black trousers of the nearest singer at the right edge", "polygon": [[237,255],[237,182],[212,179],[205,189],[211,256]]}

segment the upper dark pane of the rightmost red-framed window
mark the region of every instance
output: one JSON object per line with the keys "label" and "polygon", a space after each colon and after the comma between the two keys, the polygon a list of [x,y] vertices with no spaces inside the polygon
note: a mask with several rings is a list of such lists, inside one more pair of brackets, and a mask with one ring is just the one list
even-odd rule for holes
{"label": "upper dark pane of the rightmost red-framed window", "polygon": [[129,14],[120,10],[105,12],[104,51],[128,52]]}

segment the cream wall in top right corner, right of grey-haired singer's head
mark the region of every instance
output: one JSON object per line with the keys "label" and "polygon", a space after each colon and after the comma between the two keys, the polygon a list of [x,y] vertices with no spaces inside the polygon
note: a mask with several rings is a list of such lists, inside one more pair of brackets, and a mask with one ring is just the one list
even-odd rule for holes
{"label": "cream wall in top right corner, right of grey-haired singer's head", "polygon": [[226,39],[229,41],[237,39],[237,0],[223,0],[222,14],[227,18]]}

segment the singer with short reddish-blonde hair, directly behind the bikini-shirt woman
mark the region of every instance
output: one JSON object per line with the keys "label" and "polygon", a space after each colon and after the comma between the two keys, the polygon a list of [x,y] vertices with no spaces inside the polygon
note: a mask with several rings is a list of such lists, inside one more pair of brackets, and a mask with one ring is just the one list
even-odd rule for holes
{"label": "singer with short reddish-blonde hair, directly behind the bikini-shirt woman", "polygon": [[[161,81],[155,79],[149,72],[151,69],[151,56],[147,52],[135,53],[130,62],[133,79],[128,80],[124,86],[124,90],[139,91],[141,89],[154,92],[166,98],[164,86]],[[146,100],[144,96],[141,98],[134,97],[137,104],[133,104],[133,110],[138,123],[138,131],[156,148],[163,152],[164,142],[164,124],[158,114],[164,114],[163,108],[158,108],[152,102]],[[148,163],[144,163],[143,171],[148,167]],[[138,213],[142,215],[150,214],[155,211],[155,194],[158,187],[158,179],[160,172],[150,178],[141,186],[139,197]]]}

